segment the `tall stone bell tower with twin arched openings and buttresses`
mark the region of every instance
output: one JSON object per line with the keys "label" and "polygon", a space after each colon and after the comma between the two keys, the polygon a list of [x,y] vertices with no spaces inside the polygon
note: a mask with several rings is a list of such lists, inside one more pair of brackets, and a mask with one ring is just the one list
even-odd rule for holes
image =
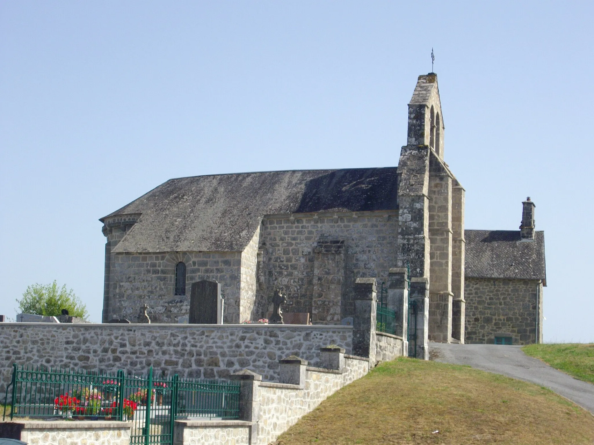
{"label": "tall stone bell tower with twin arched openings and buttresses", "polygon": [[437,74],[418,77],[408,111],[398,164],[398,266],[410,265],[409,298],[425,336],[410,353],[424,358],[428,340],[464,342],[465,190],[444,162]]}

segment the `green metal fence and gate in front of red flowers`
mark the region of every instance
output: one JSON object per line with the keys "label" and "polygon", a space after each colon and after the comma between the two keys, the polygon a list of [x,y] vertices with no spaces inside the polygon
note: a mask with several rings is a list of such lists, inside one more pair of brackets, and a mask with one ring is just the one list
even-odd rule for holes
{"label": "green metal fence and gate in front of red flowers", "polygon": [[[8,390],[11,389],[10,398]],[[132,423],[132,444],[172,444],[178,418],[239,418],[239,382],[14,364],[2,419],[114,419]]]}

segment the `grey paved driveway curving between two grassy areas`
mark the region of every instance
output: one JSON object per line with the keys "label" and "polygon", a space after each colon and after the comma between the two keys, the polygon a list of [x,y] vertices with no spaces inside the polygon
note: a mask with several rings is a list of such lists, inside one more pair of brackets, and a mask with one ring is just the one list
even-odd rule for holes
{"label": "grey paved driveway curving between two grassy areas", "polygon": [[490,373],[548,387],[594,414],[594,384],[574,379],[537,358],[528,357],[521,348],[429,342],[429,357],[431,360],[470,365]]}

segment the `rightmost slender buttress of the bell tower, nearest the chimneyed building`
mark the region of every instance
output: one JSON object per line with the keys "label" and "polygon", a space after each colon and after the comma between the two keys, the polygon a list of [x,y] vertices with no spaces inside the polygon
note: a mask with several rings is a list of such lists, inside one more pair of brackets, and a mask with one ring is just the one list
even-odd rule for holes
{"label": "rightmost slender buttress of the bell tower, nearest the chimneyed building", "polygon": [[464,299],[464,205],[465,190],[454,180],[451,195],[451,291],[453,295],[451,308],[451,336],[464,344],[466,320],[466,300]]}

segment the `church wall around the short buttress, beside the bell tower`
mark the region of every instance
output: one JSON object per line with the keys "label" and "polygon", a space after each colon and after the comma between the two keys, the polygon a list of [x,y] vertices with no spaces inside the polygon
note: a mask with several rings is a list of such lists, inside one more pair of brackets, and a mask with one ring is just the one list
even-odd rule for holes
{"label": "church wall around the short buttress, beside the bell tower", "polygon": [[[397,236],[396,211],[266,217],[261,242],[266,243],[267,250],[267,262],[263,265],[266,284],[262,286],[267,301],[276,288],[283,287],[287,294],[284,311],[312,313],[314,250],[318,241],[344,240],[345,283],[340,317],[352,316],[355,279],[377,278],[378,283],[387,282],[390,268],[396,265]],[[267,308],[268,304],[258,307]]]}

